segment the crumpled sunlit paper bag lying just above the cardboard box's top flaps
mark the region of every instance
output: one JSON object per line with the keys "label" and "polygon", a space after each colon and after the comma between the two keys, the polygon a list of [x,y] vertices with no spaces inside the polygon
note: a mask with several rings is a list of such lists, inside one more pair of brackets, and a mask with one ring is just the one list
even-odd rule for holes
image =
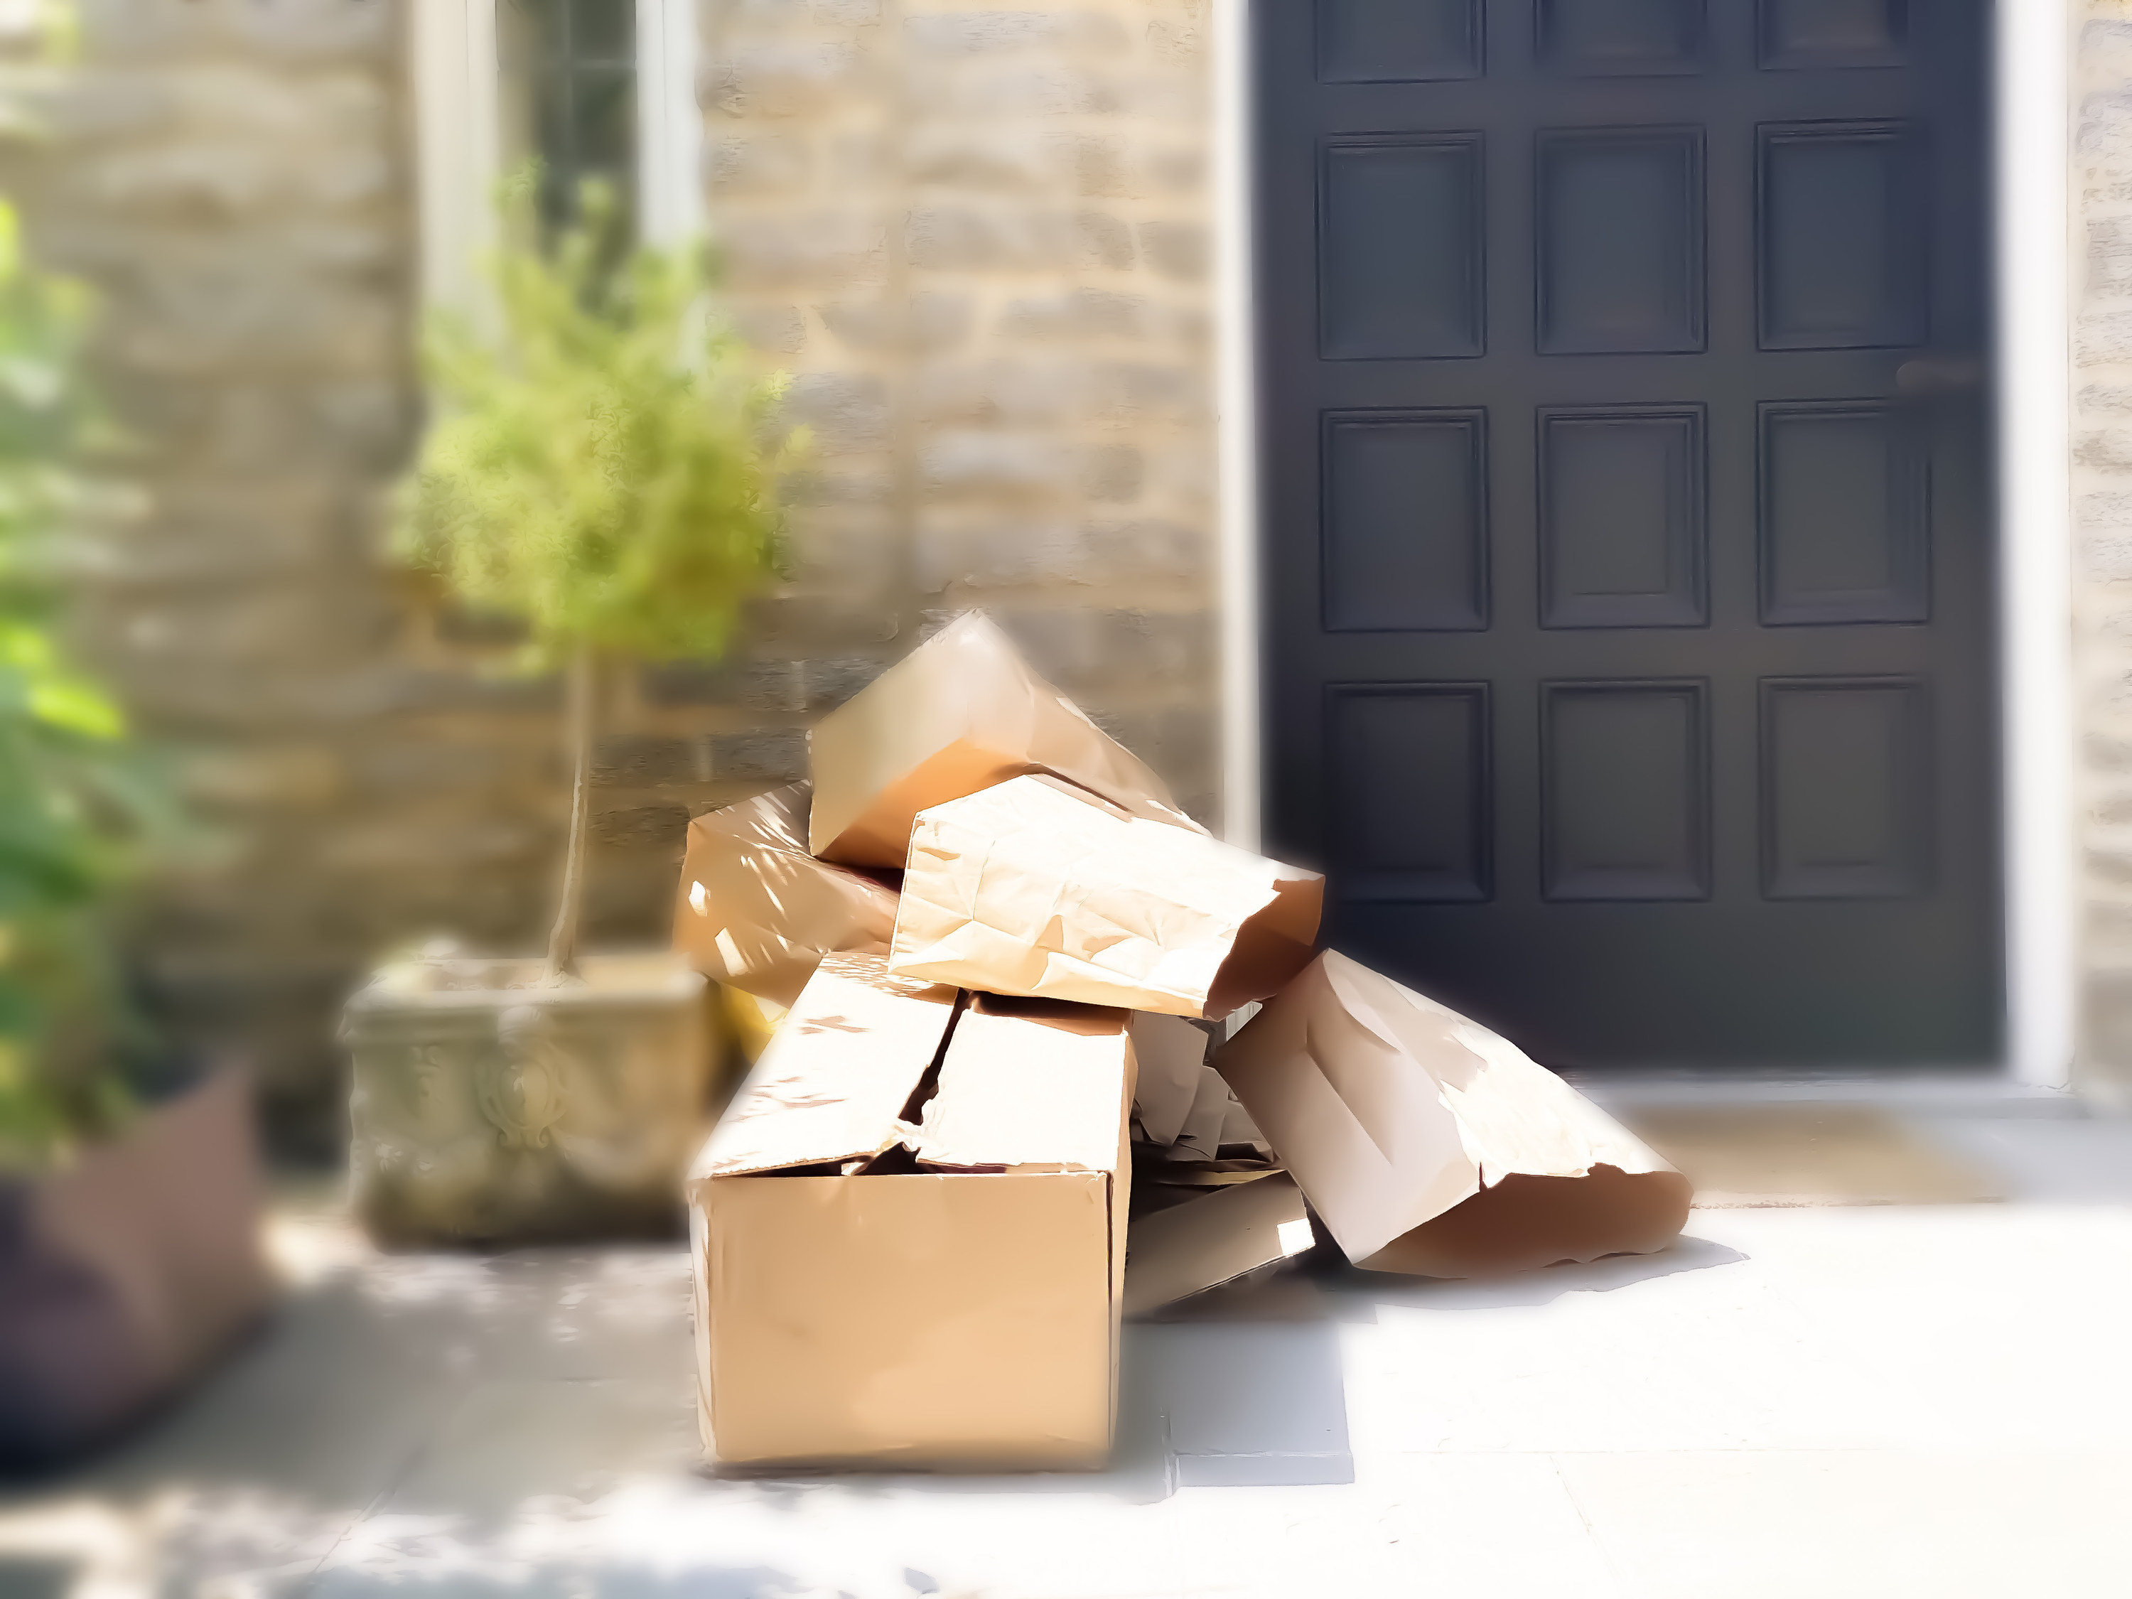
{"label": "crumpled sunlit paper bag lying just above the cardboard box's top flaps", "polygon": [[1226,1015],[1311,957],[1324,878],[1023,776],[919,812],[889,970]]}

